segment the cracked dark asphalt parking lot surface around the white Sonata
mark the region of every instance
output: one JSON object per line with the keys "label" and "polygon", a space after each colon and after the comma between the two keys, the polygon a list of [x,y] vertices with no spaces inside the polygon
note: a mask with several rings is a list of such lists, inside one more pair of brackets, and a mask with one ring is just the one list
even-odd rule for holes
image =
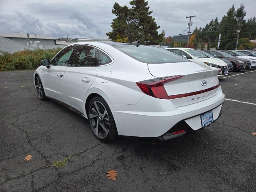
{"label": "cracked dark asphalt parking lot surface around the white Sonata", "polygon": [[38,99],[33,72],[0,72],[1,192],[256,191],[256,71],[220,79],[230,100],[217,122],[164,144],[98,141],[86,119]]}

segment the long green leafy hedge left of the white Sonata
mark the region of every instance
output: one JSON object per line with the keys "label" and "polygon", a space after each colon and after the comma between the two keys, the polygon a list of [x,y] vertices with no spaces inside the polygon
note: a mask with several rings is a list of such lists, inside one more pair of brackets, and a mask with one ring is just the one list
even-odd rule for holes
{"label": "long green leafy hedge left of the white Sonata", "polygon": [[51,59],[61,48],[18,51],[13,54],[0,51],[0,71],[36,69],[43,59]]}

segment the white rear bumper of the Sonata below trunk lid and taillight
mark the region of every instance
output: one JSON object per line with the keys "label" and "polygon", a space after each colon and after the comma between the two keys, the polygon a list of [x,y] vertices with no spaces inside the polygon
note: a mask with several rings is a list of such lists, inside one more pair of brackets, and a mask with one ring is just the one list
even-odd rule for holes
{"label": "white rear bumper of the Sonata below trunk lid and taillight", "polygon": [[174,107],[170,100],[145,95],[136,105],[110,106],[119,135],[136,137],[160,137],[181,121],[191,130],[202,128],[200,114],[212,110],[213,120],[219,115],[224,102],[221,89],[206,100]]}

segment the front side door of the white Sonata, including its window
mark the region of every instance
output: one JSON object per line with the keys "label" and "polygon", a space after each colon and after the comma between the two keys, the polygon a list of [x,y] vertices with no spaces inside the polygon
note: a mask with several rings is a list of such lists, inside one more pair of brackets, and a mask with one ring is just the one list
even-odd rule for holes
{"label": "front side door of the white Sonata, including its window", "polygon": [[66,102],[63,90],[63,78],[66,68],[71,65],[72,53],[76,46],[70,46],[58,53],[50,62],[50,68],[45,68],[42,77],[46,96]]}

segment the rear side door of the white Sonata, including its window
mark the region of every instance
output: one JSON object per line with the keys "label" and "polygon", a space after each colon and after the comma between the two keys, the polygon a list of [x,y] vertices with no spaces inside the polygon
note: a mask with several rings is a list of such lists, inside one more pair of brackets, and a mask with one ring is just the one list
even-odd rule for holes
{"label": "rear side door of the white Sonata, including its window", "polygon": [[80,45],[71,66],[65,71],[63,88],[67,103],[80,110],[85,95],[96,78],[98,50],[93,46]]}

